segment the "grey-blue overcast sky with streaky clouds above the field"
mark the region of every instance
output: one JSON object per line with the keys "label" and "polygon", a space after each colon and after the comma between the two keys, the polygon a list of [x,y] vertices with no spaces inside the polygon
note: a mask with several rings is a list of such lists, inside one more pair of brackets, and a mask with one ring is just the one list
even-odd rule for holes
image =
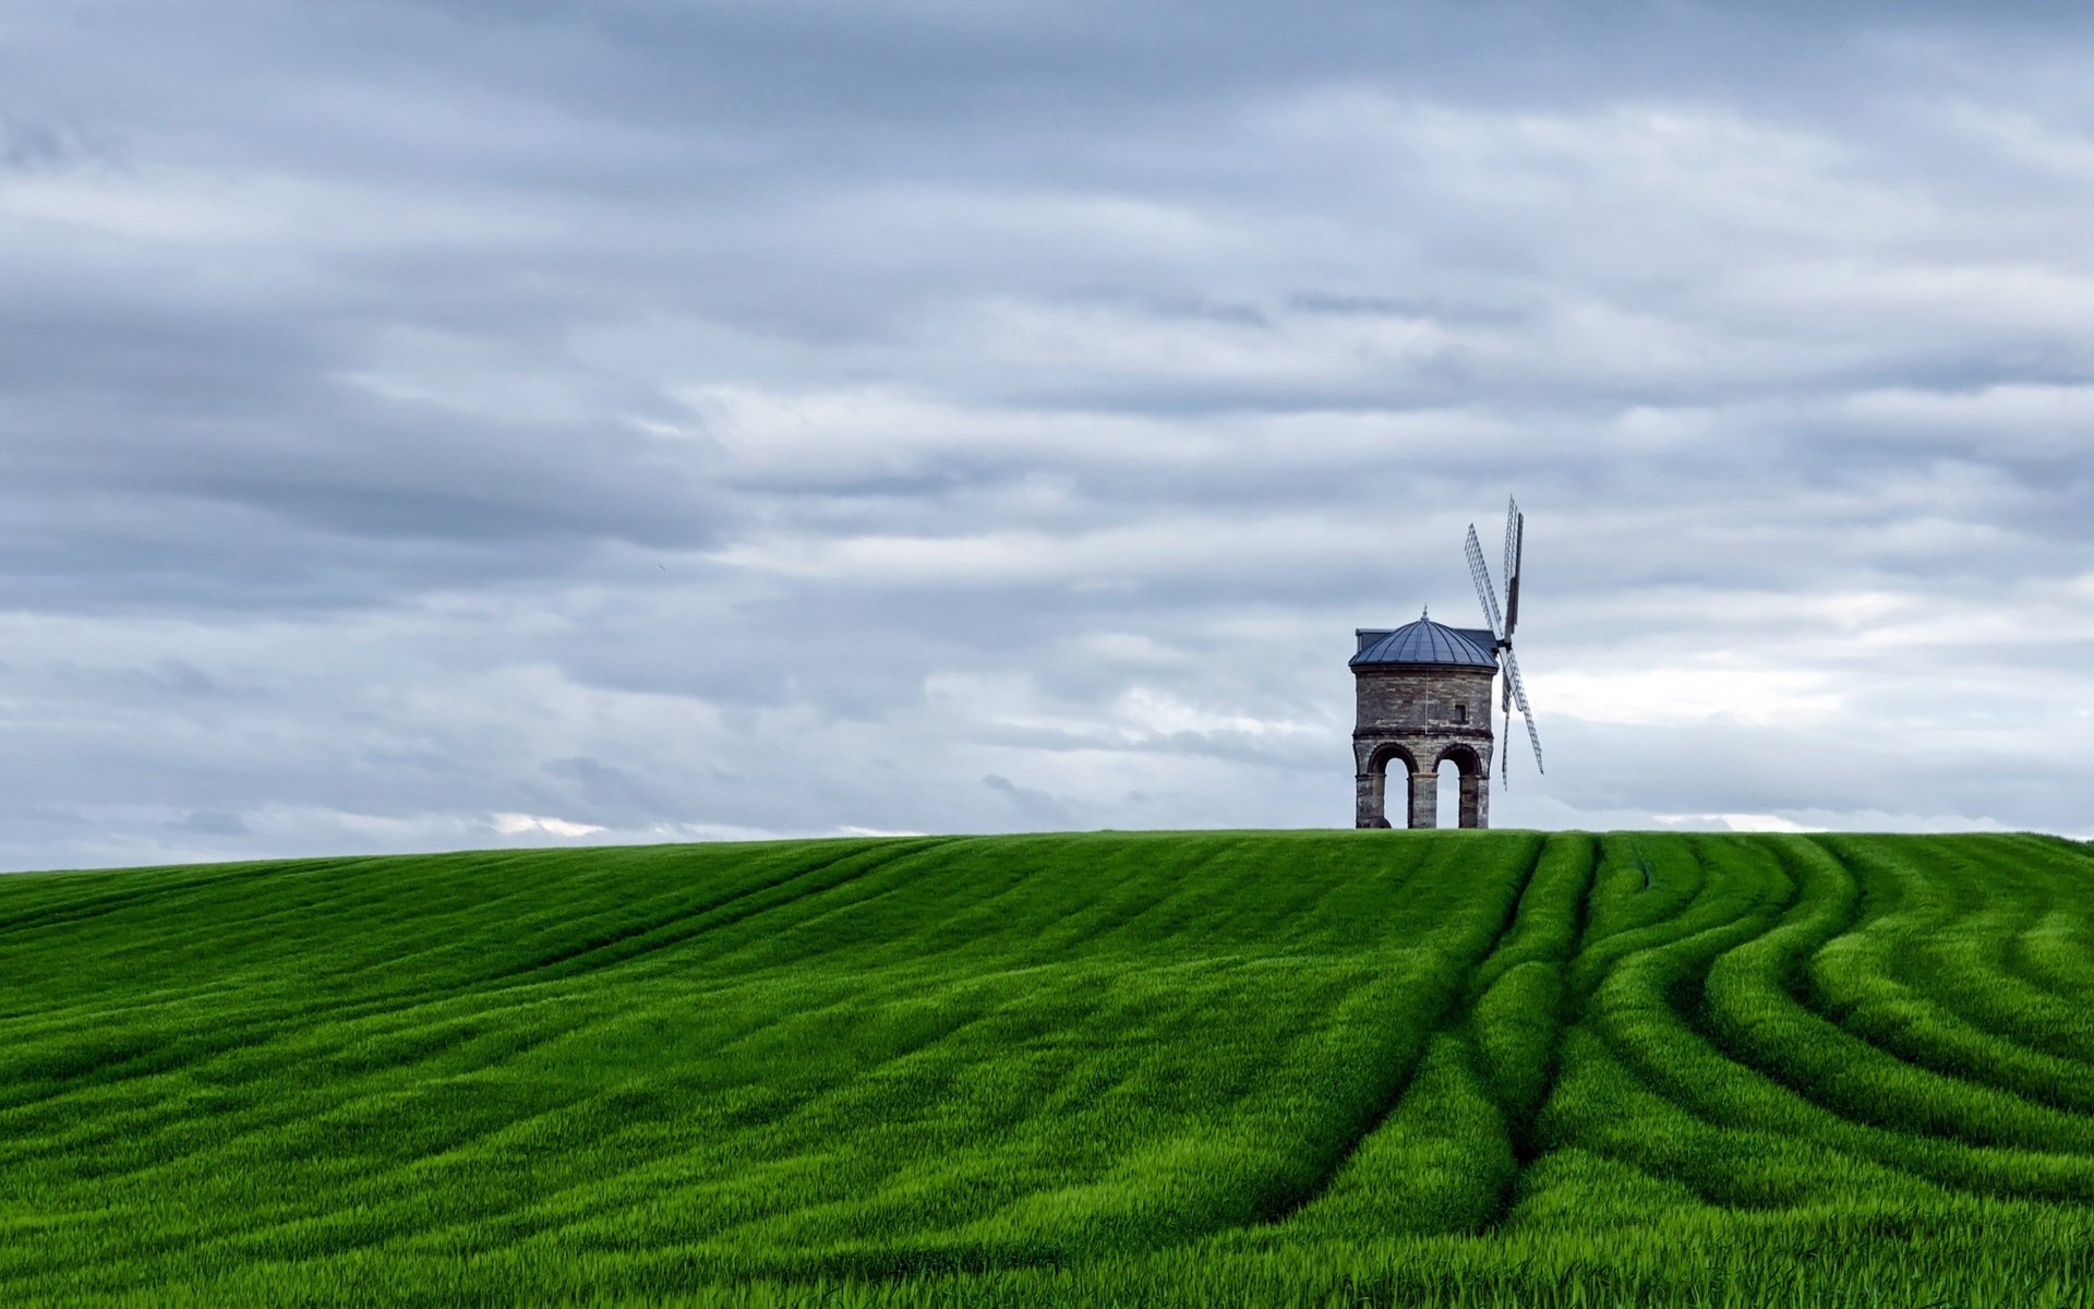
{"label": "grey-blue overcast sky with streaky clouds above the field", "polygon": [[0,867],[2094,834],[2077,8],[6,0]]}

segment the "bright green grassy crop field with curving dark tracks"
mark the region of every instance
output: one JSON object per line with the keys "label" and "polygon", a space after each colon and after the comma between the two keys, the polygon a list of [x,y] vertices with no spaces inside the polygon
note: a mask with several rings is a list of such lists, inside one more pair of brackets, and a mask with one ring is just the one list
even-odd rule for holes
{"label": "bright green grassy crop field with curving dark tracks", "polygon": [[2094,1305],[2094,850],[0,878],[0,1305]]}

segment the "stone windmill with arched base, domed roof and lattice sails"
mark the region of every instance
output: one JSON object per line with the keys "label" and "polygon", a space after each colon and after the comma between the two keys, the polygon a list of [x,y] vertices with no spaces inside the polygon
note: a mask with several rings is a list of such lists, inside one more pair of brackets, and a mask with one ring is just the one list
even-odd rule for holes
{"label": "stone windmill with arched base, domed roof and lattice sails", "polygon": [[[1468,570],[1489,628],[1457,628],[1432,622],[1430,612],[1399,628],[1355,628],[1353,687],[1359,716],[1353,725],[1355,825],[1393,827],[1388,819],[1388,771],[1403,767],[1405,825],[1439,825],[1439,767],[1453,762],[1462,773],[1462,827],[1491,825],[1491,683],[1506,674],[1506,725],[1518,700],[1527,737],[1541,769],[1541,737],[1527,708],[1520,666],[1512,660],[1512,624],[1520,616],[1518,505],[1506,511],[1506,614],[1497,612],[1497,591],[1468,530]],[[1510,764],[1508,764],[1510,771]]]}

